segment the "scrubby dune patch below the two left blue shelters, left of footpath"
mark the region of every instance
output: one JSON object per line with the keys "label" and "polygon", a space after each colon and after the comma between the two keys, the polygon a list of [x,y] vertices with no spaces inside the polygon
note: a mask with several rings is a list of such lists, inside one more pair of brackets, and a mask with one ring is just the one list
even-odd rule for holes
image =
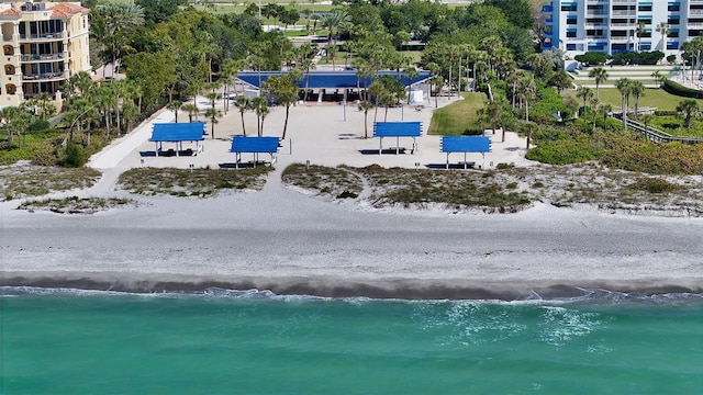
{"label": "scrubby dune patch below the two left blue shelters, left of footpath", "polygon": [[214,196],[222,190],[260,190],[271,167],[249,169],[136,168],[123,172],[119,184],[144,195]]}

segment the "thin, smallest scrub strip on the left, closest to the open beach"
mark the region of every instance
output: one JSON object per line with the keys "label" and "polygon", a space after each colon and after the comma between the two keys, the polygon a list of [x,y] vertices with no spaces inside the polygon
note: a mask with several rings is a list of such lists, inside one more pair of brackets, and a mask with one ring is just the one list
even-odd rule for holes
{"label": "thin, smallest scrub strip on the left, closest to the open beach", "polygon": [[29,212],[49,211],[58,214],[94,214],[97,212],[136,205],[131,199],[119,198],[78,198],[70,196],[64,199],[32,200],[22,203],[18,210]]}

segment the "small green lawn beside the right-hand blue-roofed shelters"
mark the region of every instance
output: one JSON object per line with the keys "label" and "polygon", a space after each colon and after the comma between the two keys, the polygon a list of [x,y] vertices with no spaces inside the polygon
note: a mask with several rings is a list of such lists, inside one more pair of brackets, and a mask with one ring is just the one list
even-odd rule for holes
{"label": "small green lawn beside the right-hand blue-roofed shelters", "polygon": [[[478,129],[476,111],[483,108],[484,93],[462,93],[464,100],[458,100],[445,108],[436,110],[432,114],[432,123],[427,134],[432,135],[461,135],[466,129]],[[432,98],[431,105],[434,105]],[[447,100],[438,98],[439,101]]]}

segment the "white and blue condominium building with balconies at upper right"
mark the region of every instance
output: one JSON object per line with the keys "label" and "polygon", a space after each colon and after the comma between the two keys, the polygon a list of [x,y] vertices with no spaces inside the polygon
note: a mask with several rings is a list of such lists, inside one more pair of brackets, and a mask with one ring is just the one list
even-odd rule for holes
{"label": "white and blue condominium building with balconies at upper right", "polygon": [[[661,50],[678,55],[703,32],[703,0],[544,0],[544,48],[585,52]],[[666,24],[661,29],[662,23]]]}

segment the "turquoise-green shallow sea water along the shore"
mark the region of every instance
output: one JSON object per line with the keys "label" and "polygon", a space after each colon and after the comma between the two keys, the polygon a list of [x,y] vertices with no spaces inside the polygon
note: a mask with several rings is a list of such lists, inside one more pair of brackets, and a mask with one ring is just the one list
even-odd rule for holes
{"label": "turquoise-green shallow sea water along the shore", "polygon": [[1,394],[701,394],[703,295],[408,302],[4,290]]}

